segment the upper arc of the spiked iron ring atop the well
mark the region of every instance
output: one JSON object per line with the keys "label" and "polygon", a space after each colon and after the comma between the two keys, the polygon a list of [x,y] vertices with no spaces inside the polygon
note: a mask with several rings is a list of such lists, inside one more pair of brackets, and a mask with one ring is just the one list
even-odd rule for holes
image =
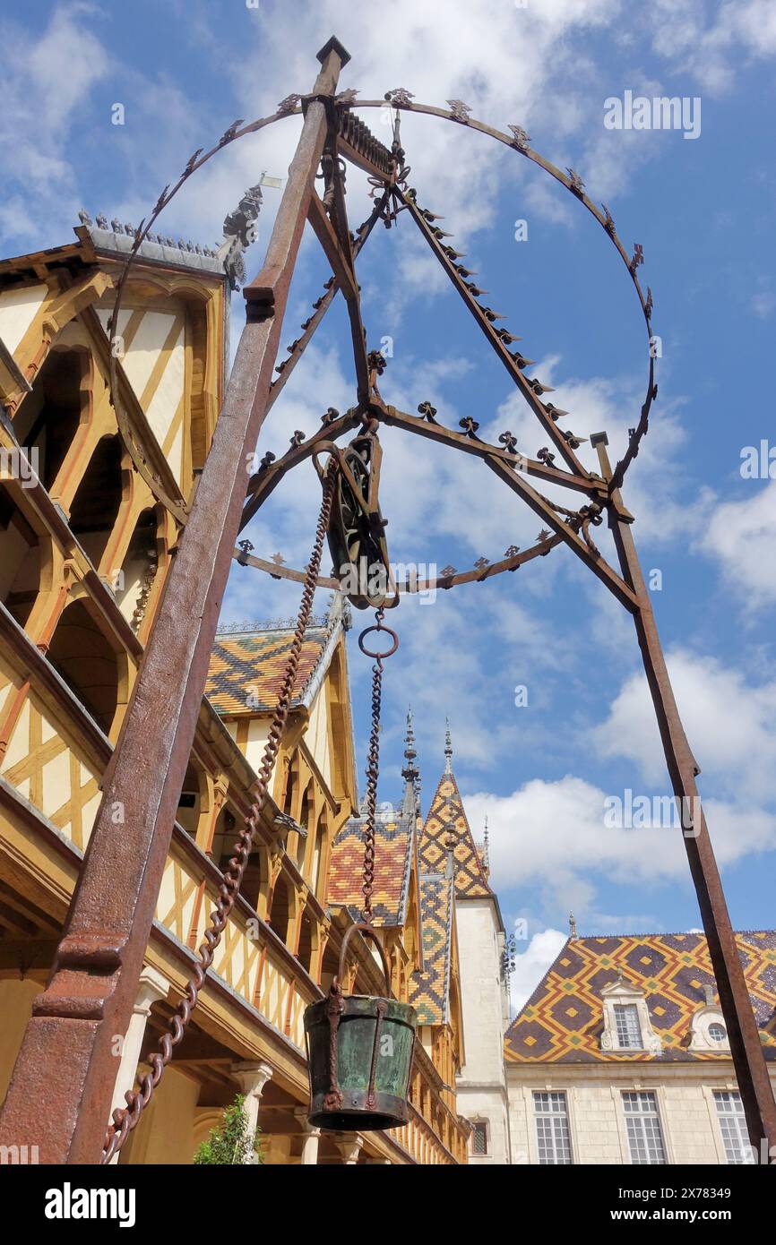
{"label": "upper arc of the spiked iron ring atop the well", "polygon": [[[443,121],[451,121],[453,125],[466,125],[470,129],[486,134],[490,138],[494,138],[498,142],[503,143],[504,146],[511,147],[512,149],[519,152],[519,154],[523,156],[526,159],[529,159],[533,164],[538,166],[539,168],[544,169],[544,172],[549,173],[551,177],[553,177],[568,190],[570,190],[574,194],[574,197],[578,198],[580,203],[584,204],[588,212],[590,212],[590,214],[595,217],[598,223],[608,234],[613,245],[618,250],[623,263],[628,268],[628,271],[630,273],[633,284],[636,290],[636,295],[639,298],[639,303],[641,306],[649,336],[649,344],[650,344],[649,380],[648,380],[646,396],[644,403],[641,405],[639,423],[636,425],[635,428],[632,430],[628,449],[624,457],[617,463],[612,481],[609,482],[609,492],[612,493],[622,487],[625,471],[630,466],[633,458],[635,458],[639,452],[640,441],[648,431],[651,403],[656,397],[658,392],[655,385],[655,361],[651,350],[653,296],[651,296],[651,290],[649,288],[646,290],[646,296],[643,294],[636,275],[636,270],[644,260],[641,248],[640,245],[636,244],[634,255],[633,256],[628,255],[625,248],[623,247],[617,234],[613,217],[609,209],[605,207],[605,204],[602,204],[604,209],[602,213],[584,193],[584,182],[582,181],[579,174],[575,173],[574,169],[568,169],[568,176],[565,176],[551,161],[546,159],[537,151],[529,147],[531,136],[527,134],[521,126],[509,127],[512,129],[512,137],[511,137],[509,134],[506,134],[503,131],[496,129],[492,126],[487,126],[482,121],[477,121],[475,117],[470,115],[468,107],[461,105],[460,101],[448,101],[448,102],[453,105],[453,107],[448,110],[437,108],[433,105],[416,103],[415,97],[411,95],[411,92],[404,88],[397,88],[386,92],[382,100],[359,100],[357,107],[385,108],[387,105],[392,108],[396,108],[397,113],[399,111],[407,111],[432,117],[441,117]],[[343,111],[349,112],[355,103],[355,92],[350,92],[350,97],[346,101],[341,101],[341,103],[343,103]],[[278,110],[272,116],[259,117],[255,121],[248,122],[247,125],[243,125],[242,118],[239,118],[224,131],[218,142],[212,148],[209,148],[209,151],[206,151],[203,153],[202,147],[197,148],[197,151],[194,151],[189,157],[183,172],[181,173],[178,181],[174,183],[172,189],[169,184],[166,186],[164,189],[161,192],[148,219],[146,220],[146,218],[143,218],[141,220],[135,233],[135,242],[132,244],[130,254],[127,255],[127,259],[121,271],[121,276],[116,285],[116,300],[107,326],[108,337],[111,340],[111,351],[108,355],[108,372],[110,372],[108,380],[110,380],[111,403],[116,411],[116,420],[118,423],[120,432],[122,435],[122,439],[127,446],[130,456],[132,457],[132,461],[138,473],[146,481],[156,499],[162,502],[162,504],[166,505],[166,508],[176,517],[178,523],[181,523],[182,525],[186,524],[188,519],[188,508],[186,500],[181,497],[176,498],[169,494],[169,491],[166,488],[164,483],[159,479],[158,474],[153,471],[153,467],[146,459],[142,447],[136,439],[135,433],[132,431],[131,421],[127,417],[127,413],[118,396],[117,365],[118,365],[120,352],[117,347],[120,346],[120,335],[117,334],[116,330],[118,326],[120,311],[121,311],[127,276],[130,274],[132,263],[137,256],[140,247],[151,233],[152,225],[156,223],[163,209],[171,203],[171,200],[174,198],[178,190],[187,183],[187,181],[193,173],[198,172],[202,168],[202,166],[207,163],[207,161],[212,159],[212,157],[215,156],[219,151],[223,151],[224,147],[230,146],[230,143],[235,142],[239,138],[244,138],[245,134],[257,133],[259,129],[263,129],[277,121],[282,121],[291,116],[300,116],[303,112],[304,112],[303,97],[299,95],[289,95],[280,101],[280,103],[278,105]],[[404,153],[401,153],[401,156],[404,156]],[[386,174],[385,184],[387,184],[389,187],[394,183],[399,184],[397,181],[399,177],[401,176],[401,178],[406,181],[407,173],[409,168],[406,166],[402,167],[401,169],[394,167],[390,176]],[[370,605],[374,605],[374,601],[366,600],[361,608],[367,608]]]}

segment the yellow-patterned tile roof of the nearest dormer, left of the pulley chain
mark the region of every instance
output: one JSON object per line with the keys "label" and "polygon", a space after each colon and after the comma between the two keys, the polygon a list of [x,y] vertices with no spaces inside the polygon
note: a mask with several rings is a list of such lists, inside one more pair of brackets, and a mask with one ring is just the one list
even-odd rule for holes
{"label": "yellow-patterned tile roof of the nearest dormer, left of the pulley chain", "polygon": [[[283,686],[293,639],[293,630],[217,636],[204,687],[215,712],[222,716],[272,712]],[[305,702],[305,692],[325,670],[331,639],[329,627],[308,627],[291,707]]]}

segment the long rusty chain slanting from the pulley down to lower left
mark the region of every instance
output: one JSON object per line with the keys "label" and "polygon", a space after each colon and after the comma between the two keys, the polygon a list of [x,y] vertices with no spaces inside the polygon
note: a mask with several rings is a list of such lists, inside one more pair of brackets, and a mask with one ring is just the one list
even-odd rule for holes
{"label": "long rusty chain slanting from the pulley down to lower left", "polygon": [[315,543],[313,545],[313,554],[310,561],[308,563],[308,570],[305,574],[304,591],[301,594],[301,601],[299,604],[299,615],[296,621],[296,630],[294,632],[294,639],[291,641],[291,647],[289,651],[288,662],[285,666],[285,675],[283,679],[283,686],[280,688],[280,695],[278,697],[278,705],[273,715],[272,726],[269,730],[269,737],[264,747],[264,753],[262,756],[262,764],[259,767],[258,781],[255,786],[255,799],[250,806],[250,810],[245,818],[245,823],[240,830],[239,839],[234,844],[234,855],[230,858],[229,864],[223,874],[223,881],[218,889],[218,900],[214,910],[211,913],[211,928],[204,934],[204,942],[199,946],[199,964],[194,969],[192,976],[186,984],[184,996],[176,1007],[173,1015],[168,1021],[168,1031],[162,1035],[158,1040],[157,1050],[148,1057],[148,1063],[151,1064],[151,1072],[146,1073],[140,1083],[140,1088],[135,1092],[128,1092],[125,1097],[127,1106],[123,1108],[117,1108],[113,1112],[113,1123],[108,1127],[105,1138],[105,1148],[102,1152],[102,1163],[110,1163],[115,1154],[125,1144],[127,1137],[133,1128],[140,1122],[140,1118],[151,1101],[153,1091],[162,1079],[162,1073],[172,1058],[172,1052],[176,1046],[183,1040],[186,1027],[191,1020],[192,1011],[197,1006],[197,1000],[199,992],[206,982],[207,971],[213,964],[215,955],[215,949],[220,942],[220,936],[227,926],[227,921],[234,908],[234,901],[239,893],[240,883],[243,880],[243,874],[248,864],[248,858],[250,855],[250,847],[253,843],[253,837],[259,822],[262,809],[264,808],[264,802],[267,799],[267,792],[269,788],[269,779],[278,758],[278,752],[280,749],[280,742],[283,740],[283,733],[285,730],[285,723],[289,715],[291,693],[294,690],[294,684],[296,681],[296,672],[299,670],[299,659],[301,655],[301,646],[304,644],[305,631],[310,621],[310,614],[313,611],[313,599],[315,596],[315,580],[318,579],[318,571],[320,569],[320,559],[324,548],[324,539],[326,537],[326,529],[329,527],[329,518],[331,514],[331,502],[334,498],[334,486],[336,482],[338,466],[336,461],[333,458],[329,462],[329,468],[324,479],[324,499],[320,508],[320,515],[318,519],[318,528],[315,529]]}

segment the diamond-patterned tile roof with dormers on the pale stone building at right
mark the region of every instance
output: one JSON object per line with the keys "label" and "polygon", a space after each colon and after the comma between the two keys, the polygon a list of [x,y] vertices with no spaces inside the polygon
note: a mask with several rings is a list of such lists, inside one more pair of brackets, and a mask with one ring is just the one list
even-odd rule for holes
{"label": "diamond-patterned tile roof with dormers on the pale stone building at right", "polygon": [[[776,1059],[776,931],[736,934],[749,994],[769,1059]],[[660,1055],[602,1051],[600,991],[618,974],[640,987]],[[602,1059],[663,1062],[730,1059],[726,1051],[689,1051],[690,1021],[716,991],[703,934],[634,934],[568,939],[504,1037],[513,1063],[590,1063]]]}

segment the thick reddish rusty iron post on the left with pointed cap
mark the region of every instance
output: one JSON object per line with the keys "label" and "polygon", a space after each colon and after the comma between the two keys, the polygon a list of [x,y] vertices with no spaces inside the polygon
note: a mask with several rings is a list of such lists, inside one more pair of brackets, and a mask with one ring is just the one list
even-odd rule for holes
{"label": "thick reddish rusty iron post on the left with pointed cap", "polygon": [[264,268],[244,290],[243,330],[213,443],[173,561],[70,906],[51,979],[35,1000],[0,1113],[0,1144],[41,1163],[98,1163],[117,1059],[159,891],[245,499],[245,462],[264,420],[283,312],[328,132],[325,105],[350,57],[336,39],[321,70]]}

